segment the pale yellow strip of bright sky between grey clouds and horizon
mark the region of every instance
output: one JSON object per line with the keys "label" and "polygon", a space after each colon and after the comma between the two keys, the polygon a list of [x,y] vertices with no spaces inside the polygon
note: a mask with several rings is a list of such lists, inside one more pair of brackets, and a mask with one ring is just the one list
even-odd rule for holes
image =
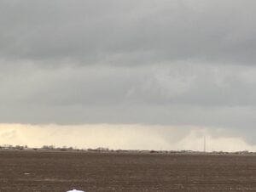
{"label": "pale yellow strip of bright sky between grey clouds and horizon", "polygon": [[55,145],[113,150],[256,151],[256,145],[230,135],[226,128],[140,124],[85,124],[77,126],[0,124],[0,144],[29,147]]}

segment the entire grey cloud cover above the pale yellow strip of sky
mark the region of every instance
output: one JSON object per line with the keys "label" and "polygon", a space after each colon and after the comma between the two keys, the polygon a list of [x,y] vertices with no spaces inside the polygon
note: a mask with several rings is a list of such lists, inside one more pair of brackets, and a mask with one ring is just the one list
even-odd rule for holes
{"label": "entire grey cloud cover above the pale yellow strip of sky", "polygon": [[1,0],[0,122],[204,127],[256,144],[255,8]]}

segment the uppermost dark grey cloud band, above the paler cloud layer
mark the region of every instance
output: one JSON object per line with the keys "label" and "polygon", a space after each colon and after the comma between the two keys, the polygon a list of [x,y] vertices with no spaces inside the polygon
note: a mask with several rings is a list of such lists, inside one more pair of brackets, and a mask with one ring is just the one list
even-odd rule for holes
{"label": "uppermost dark grey cloud band, above the paler cloud layer", "polygon": [[236,0],[1,1],[0,55],[59,65],[254,64],[255,6]]}

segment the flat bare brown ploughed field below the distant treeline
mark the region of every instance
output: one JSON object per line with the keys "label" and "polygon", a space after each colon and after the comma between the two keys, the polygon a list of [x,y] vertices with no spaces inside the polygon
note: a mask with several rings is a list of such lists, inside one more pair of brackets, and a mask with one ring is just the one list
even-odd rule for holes
{"label": "flat bare brown ploughed field below the distant treeline", "polygon": [[255,155],[0,151],[0,191],[256,191]]}

